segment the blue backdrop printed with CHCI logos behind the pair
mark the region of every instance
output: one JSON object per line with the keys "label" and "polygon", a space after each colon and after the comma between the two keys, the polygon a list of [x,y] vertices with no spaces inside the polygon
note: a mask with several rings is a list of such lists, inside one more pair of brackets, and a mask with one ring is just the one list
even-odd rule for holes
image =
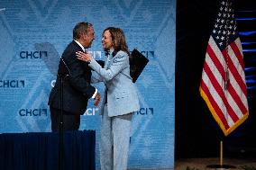
{"label": "blue backdrop printed with CHCI logos behind the pair", "polygon": [[[50,131],[47,102],[59,57],[82,21],[94,24],[95,58],[105,59],[101,34],[115,26],[129,49],[150,60],[135,84],[141,110],[133,113],[128,166],[174,168],[176,0],[1,0],[0,133]],[[96,167],[99,123],[90,101],[80,130],[96,130]]]}

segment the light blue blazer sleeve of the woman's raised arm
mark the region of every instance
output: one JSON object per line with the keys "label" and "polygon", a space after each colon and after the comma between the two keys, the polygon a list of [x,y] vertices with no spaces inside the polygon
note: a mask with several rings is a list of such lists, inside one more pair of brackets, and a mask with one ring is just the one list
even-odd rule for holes
{"label": "light blue blazer sleeve of the woman's raised arm", "polygon": [[112,78],[114,78],[114,76],[116,76],[125,67],[128,66],[129,58],[128,55],[123,51],[119,51],[114,56],[113,63],[108,69],[101,67],[94,58],[89,64],[89,67],[93,68],[98,75],[102,76],[105,79],[105,81],[110,81]]}

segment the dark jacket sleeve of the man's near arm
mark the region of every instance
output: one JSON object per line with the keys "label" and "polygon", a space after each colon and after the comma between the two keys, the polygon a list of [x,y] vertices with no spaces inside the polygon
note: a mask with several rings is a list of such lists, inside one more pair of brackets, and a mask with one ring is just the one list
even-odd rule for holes
{"label": "dark jacket sleeve of the man's near arm", "polygon": [[[75,52],[72,52],[69,59],[67,59],[67,67],[69,67],[69,83],[78,91],[87,95],[88,98],[91,98],[93,94],[96,92],[96,88],[90,85],[90,82],[87,81],[85,74],[85,67],[86,63],[78,60],[76,58]],[[87,69],[90,69],[87,67]]]}

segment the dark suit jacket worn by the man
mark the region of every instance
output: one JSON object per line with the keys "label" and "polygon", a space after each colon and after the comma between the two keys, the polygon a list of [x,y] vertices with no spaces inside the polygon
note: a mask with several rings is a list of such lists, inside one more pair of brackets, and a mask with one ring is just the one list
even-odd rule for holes
{"label": "dark suit jacket worn by the man", "polygon": [[77,51],[83,51],[76,41],[69,43],[60,60],[55,86],[51,89],[49,105],[60,109],[60,75],[64,76],[63,110],[70,114],[83,114],[87,110],[87,101],[95,93],[90,85],[91,68],[76,57]]}

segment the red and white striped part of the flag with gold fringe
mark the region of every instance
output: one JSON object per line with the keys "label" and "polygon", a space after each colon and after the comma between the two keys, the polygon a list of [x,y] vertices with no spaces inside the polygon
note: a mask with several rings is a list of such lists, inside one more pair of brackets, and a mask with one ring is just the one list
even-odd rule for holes
{"label": "red and white striped part of the flag with gold fringe", "polygon": [[[225,70],[228,71],[229,77],[226,86]],[[212,36],[210,37],[206,49],[200,94],[206,101],[215,121],[224,131],[224,135],[230,134],[246,120],[249,110],[242,46],[239,38],[221,51]]]}

